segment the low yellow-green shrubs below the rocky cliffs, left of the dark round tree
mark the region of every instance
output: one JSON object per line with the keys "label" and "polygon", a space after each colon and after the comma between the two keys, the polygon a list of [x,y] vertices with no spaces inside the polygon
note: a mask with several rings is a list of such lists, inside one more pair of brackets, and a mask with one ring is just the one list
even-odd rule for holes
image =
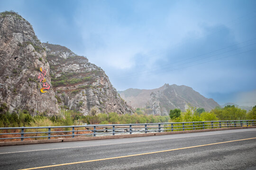
{"label": "low yellow-green shrubs below the rocky cliffs, left of the dark round tree", "polygon": [[0,113],[0,127],[40,127],[40,126],[72,126],[86,124],[137,124],[168,122],[169,116],[138,114],[117,114],[116,112],[82,115],[76,110],[67,110],[62,114],[47,116],[38,113],[31,116],[27,110]]}

